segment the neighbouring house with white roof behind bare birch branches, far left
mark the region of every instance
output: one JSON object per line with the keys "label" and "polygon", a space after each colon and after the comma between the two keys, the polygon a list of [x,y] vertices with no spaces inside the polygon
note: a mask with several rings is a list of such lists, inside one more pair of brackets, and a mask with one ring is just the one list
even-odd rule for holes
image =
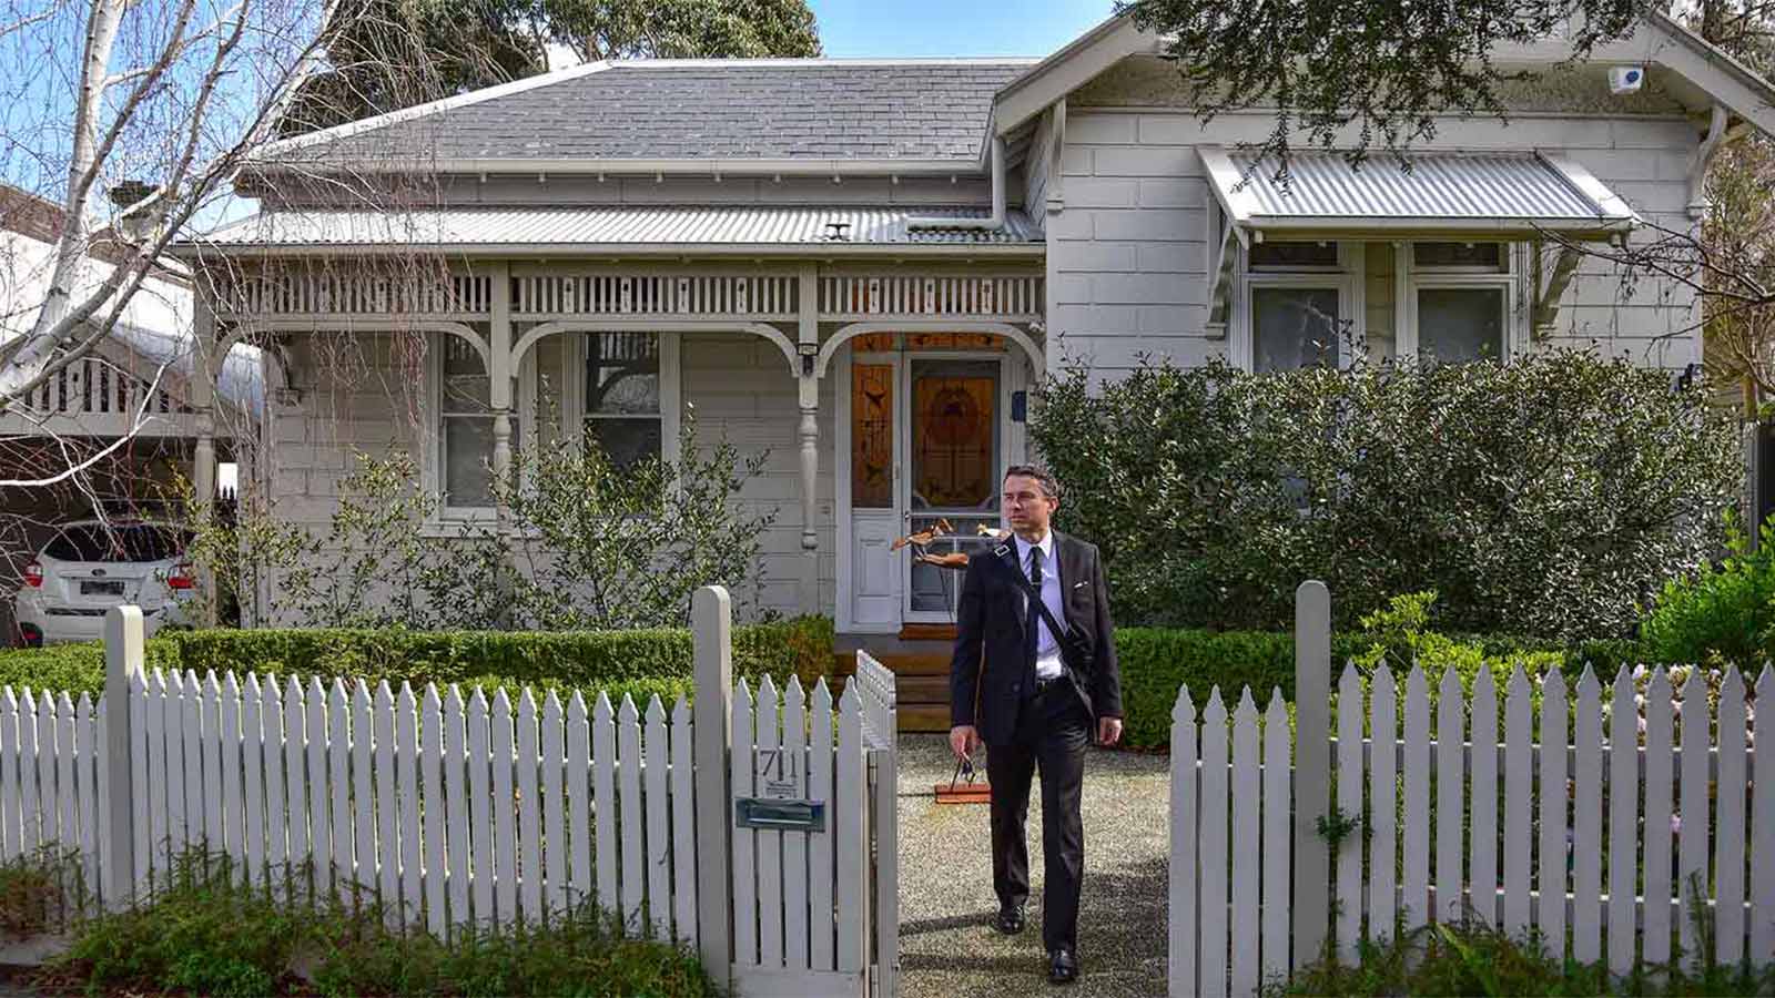
{"label": "neighbouring house with white roof behind bare birch branches, far left", "polygon": [[[62,208],[0,185],[0,346],[30,332],[62,233]],[[94,288],[128,250],[101,231],[80,288]],[[193,293],[186,266],[158,266],[110,334],[0,412],[0,593],[67,520],[170,515],[176,478],[248,462],[264,405],[259,348],[236,345],[211,389],[192,378]],[[193,385],[202,385],[193,396]],[[204,400],[209,400],[208,403]],[[209,460],[199,460],[208,440]],[[78,469],[78,474],[75,471]],[[215,481],[213,478],[209,481]],[[16,639],[12,600],[0,625]]]}

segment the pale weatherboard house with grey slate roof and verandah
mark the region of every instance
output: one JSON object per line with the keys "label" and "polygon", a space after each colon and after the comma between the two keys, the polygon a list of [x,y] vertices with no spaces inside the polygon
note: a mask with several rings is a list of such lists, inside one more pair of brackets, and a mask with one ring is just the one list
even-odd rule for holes
{"label": "pale weatherboard house with grey slate roof and verandah", "polygon": [[179,252],[220,288],[202,334],[288,362],[291,508],[405,448],[447,529],[517,448],[673,455],[694,407],[770,449],[763,604],[850,636],[951,620],[957,577],[891,542],[998,526],[1063,364],[1289,368],[1338,323],[1376,357],[1700,360],[1690,291],[1562,249],[1690,229],[1709,151],[1775,128],[1668,18],[1582,66],[1496,51],[1544,71],[1509,123],[1450,115],[1409,170],[1299,153],[1287,194],[1242,151],[1273,115],[1202,124],[1157,53],[1113,18],[1038,60],[596,62],[279,142],[240,178],[263,211]]}

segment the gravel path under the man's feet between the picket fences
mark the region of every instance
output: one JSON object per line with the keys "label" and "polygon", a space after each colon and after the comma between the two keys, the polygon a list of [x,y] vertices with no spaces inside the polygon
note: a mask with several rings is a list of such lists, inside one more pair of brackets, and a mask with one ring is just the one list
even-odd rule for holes
{"label": "gravel path under the man's feet between the picket fences", "polygon": [[990,920],[985,804],[937,804],[955,774],[944,735],[900,737],[900,994],[1164,994],[1170,769],[1164,756],[1088,749],[1077,984],[1047,984],[1042,952],[1042,787],[1030,792],[1030,925]]}

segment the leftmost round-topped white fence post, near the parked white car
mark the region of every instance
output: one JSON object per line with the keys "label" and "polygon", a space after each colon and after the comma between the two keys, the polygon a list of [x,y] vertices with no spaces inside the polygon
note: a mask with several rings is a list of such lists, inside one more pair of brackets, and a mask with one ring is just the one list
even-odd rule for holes
{"label": "leftmost round-topped white fence post, near the parked white car", "polygon": [[135,787],[130,780],[130,698],[142,675],[146,645],[142,607],[117,606],[105,613],[105,749],[96,762],[105,776],[99,870],[105,907],[119,911],[135,897]]}

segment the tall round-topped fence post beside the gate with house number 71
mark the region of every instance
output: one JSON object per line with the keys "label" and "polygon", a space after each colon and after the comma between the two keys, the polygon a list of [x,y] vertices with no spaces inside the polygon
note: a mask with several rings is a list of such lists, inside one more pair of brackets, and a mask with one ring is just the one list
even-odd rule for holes
{"label": "tall round-topped fence post beside the gate with house number 71", "polygon": [[703,586],[690,598],[690,641],[696,652],[696,945],[708,975],[728,984],[733,916],[733,852],[728,804],[728,749],[733,741],[733,600],[722,586]]}

